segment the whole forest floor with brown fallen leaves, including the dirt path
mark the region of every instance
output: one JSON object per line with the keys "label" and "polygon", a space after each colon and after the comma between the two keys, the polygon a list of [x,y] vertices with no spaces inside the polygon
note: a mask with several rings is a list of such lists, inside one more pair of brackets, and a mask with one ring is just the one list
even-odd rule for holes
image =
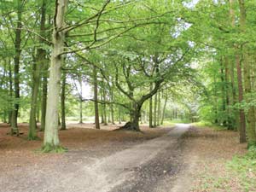
{"label": "whole forest floor with brown fallen leaves, including the dirt path", "polygon": [[[117,125],[93,129],[70,124],[60,131],[65,154],[38,152],[38,141],[6,135],[0,125],[0,191],[2,192],[188,192],[256,191],[244,186],[227,164],[246,153],[234,131],[189,125],[148,129],[143,133],[112,131]],[[255,172],[247,176],[253,181]]]}

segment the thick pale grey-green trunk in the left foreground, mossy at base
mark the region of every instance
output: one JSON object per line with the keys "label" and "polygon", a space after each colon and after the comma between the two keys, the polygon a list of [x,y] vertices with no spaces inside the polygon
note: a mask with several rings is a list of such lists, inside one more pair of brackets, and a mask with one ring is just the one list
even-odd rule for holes
{"label": "thick pale grey-green trunk in the left foreground, mossy at base", "polygon": [[44,131],[44,152],[62,149],[58,135],[58,104],[61,90],[61,63],[64,50],[65,32],[60,29],[65,26],[64,16],[67,9],[67,0],[55,1],[55,19],[53,31],[53,48],[50,60],[49,71],[49,96],[46,108],[46,121]]}

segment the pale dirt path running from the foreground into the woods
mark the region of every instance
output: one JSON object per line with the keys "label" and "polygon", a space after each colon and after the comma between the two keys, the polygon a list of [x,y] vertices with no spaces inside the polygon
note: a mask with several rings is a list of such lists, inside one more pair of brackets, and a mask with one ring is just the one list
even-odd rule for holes
{"label": "pale dirt path running from the foreground into the woods", "polygon": [[86,151],[71,151],[64,154],[59,163],[54,162],[44,169],[21,167],[20,172],[16,170],[8,177],[0,177],[0,184],[4,186],[0,191],[172,191],[175,176],[183,167],[182,140],[179,138],[188,129],[189,125],[177,125],[162,137],[108,156],[97,157],[88,155]]}

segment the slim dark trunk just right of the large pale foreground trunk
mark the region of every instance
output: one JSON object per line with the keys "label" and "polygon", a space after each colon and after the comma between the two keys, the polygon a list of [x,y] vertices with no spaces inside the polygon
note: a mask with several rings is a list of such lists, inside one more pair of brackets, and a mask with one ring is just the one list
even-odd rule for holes
{"label": "slim dark trunk just right of the large pale foreground trunk", "polygon": [[66,127],[66,79],[67,74],[62,73],[62,82],[61,82],[61,130],[67,130]]}

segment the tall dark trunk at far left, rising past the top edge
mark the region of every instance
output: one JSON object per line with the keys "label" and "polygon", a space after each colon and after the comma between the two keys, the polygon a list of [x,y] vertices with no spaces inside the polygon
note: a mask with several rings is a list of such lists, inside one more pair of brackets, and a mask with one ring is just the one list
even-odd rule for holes
{"label": "tall dark trunk at far left, rising past the top edge", "polygon": [[17,1],[17,26],[15,29],[15,69],[14,69],[14,81],[15,81],[15,106],[14,110],[12,111],[12,122],[11,122],[11,135],[16,134],[19,136],[19,129],[18,129],[18,112],[19,112],[19,100],[20,100],[20,43],[21,43],[21,15],[22,15],[22,1]]}

